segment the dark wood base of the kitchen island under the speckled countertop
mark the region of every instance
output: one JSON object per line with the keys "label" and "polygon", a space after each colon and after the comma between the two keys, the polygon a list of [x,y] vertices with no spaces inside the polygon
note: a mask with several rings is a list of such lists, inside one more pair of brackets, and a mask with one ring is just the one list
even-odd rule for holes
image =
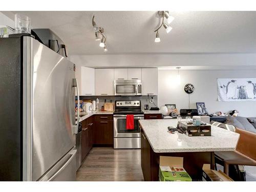
{"label": "dark wood base of the kitchen island under the speckled countertop", "polygon": [[159,157],[183,157],[183,167],[194,181],[202,180],[203,164],[214,169],[214,152],[155,153],[141,129],[141,168],[145,181],[159,180]]}

